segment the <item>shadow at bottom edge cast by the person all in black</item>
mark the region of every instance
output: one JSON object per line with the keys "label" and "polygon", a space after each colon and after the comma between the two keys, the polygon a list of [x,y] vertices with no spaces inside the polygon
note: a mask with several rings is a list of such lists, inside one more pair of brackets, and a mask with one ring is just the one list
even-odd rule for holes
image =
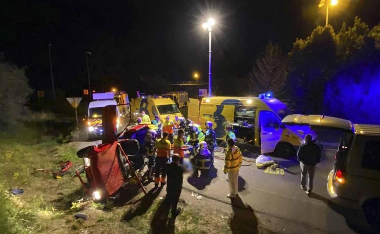
{"label": "shadow at bottom edge cast by the person all in black", "polygon": [[168,219],[169,210],[168,197],[165,197],[150,223],[152,234],[174,234],[175,219]]}

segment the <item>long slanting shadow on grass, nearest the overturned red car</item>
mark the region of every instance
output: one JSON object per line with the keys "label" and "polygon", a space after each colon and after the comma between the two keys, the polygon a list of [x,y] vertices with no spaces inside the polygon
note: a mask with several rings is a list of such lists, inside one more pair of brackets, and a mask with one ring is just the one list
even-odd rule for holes
{"label": "long slanting shadow on grass, nearest the overturned red car", "polygon": [[152,206],[154,200],[160,194],[163,187],[159,187],[158,189],[152,188],[145,196],[139,199],[135,205],[131,206],[122,217],[123,221],[130,221],[136,216],[143,215],[147,212],[150,206]]}

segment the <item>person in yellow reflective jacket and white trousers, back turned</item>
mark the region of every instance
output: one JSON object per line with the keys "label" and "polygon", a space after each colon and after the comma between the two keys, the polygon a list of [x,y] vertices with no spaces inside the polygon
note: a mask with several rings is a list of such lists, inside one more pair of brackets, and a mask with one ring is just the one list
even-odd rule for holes
{"label": "person in yellow reflective jacket and white trousers, back turned", "polygon": [[237,196],[237,177],[239,176],[242,162],[243,156],[240,149],[235,145],[234,140],[228,139],[223,169],[224,174],[228,173],[228,185],[230,186],[230,194],[227,194],[228,198],[236,198]]}

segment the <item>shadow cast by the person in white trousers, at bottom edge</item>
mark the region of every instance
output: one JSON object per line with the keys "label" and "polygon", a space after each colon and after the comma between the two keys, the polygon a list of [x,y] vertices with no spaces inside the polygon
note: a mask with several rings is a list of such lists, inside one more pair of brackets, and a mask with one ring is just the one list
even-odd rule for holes
{"label": "shadow cast by the person in white trousers, at bottom edge", "polygon": [[257,218],[253,209],[244,204],[240,196],[231,200],[233,216],[230,218],[230,228],[233,234],[258,233]]}

